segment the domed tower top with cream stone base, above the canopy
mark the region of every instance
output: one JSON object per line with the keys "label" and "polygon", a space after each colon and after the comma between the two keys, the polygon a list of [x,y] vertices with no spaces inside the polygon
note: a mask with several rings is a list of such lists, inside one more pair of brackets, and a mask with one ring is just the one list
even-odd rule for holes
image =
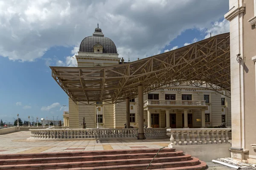
{"label": "domed tower top with cream stone base, above the canopy", "polygon": [[78,67],[109,66],[119,64],[120,61],[115,43],[104,37],[99,25],[92,36],[82,40],[76,59]]}

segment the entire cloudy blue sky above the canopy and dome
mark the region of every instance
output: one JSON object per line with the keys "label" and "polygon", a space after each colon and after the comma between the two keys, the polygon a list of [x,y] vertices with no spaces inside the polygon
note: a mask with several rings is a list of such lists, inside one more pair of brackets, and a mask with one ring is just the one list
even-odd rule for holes
{"label": "entire cloudy blue sky above the canopy and dome", "polygon": [[0,119],[63,119],[68,96],[49,66],[76,67],[97,23],[134,61],[229,32],[228,10],[228,0],[0,0]]}

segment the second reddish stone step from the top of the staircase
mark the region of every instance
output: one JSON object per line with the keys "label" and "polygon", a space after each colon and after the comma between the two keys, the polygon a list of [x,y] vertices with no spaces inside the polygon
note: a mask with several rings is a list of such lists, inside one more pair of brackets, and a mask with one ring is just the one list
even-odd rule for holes
{"label": "second reddish stone step from the top of the staircase", "polygon": [[[17,159],[0,159],[0,165],[7,164],[40,164],[40,163],[54,163],[54,162],[74,162],[74,161],[98,161],[98,160],[112,160],[112,159],[136,159],[136,158],[154,158],[156,153],[130,153],[130,154],[113,154],[113,155],[93,155],[93,156],[59,156],[59,157],[39,157],[39,158],[17,158]],[[183,156],[183,151],[163,152],[158,153],[159,157],[175,157]]]}

